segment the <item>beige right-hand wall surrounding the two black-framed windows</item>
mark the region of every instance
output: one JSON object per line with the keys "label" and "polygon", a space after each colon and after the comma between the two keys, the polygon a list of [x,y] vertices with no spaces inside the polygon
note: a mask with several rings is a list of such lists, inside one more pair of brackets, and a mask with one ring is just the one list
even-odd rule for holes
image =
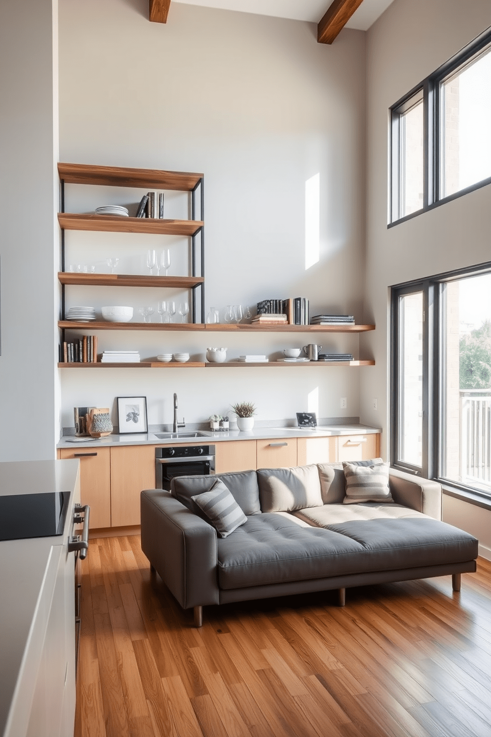
{"label": "beige right-hand wall surrounding the two black-framed windows", "polygon": [[[367,34],[367,271],[362,339],[375,368],[361,374],[361,419],[384,428],[389,457],[389,286],[490,260],[491,187],[485,186],[387,228],[389,106],[472,41],[491,22],[489,0],[395,0]],[[378,411],[372,398],[378,398]],[[452,500],[472,531],[475,508]],[[491,514],[482,544],[491,547]],[[484,527],[483,527],[484,529]]]}

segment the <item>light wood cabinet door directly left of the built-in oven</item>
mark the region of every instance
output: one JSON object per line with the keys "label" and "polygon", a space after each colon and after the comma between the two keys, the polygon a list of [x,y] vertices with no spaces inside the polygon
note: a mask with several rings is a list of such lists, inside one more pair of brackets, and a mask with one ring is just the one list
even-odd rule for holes
{"label": "light wood cabinet door directly left of the built-in oven", "polygon": [[111,448],[111,525],[140,524],[140,494],[155,489],[155,445]]}

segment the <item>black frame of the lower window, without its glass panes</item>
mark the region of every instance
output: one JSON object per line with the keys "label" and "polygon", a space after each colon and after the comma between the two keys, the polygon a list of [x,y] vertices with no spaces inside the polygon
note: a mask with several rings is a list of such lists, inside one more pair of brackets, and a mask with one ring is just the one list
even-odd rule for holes
{"label": "black frame of the lower window, without its glass panes", "polygon": [[[491,492],[484,492],[473,486],[466,486],[444,478],[440,468],[442,453],[445,449],[445,414],[441,399],[445,383],[445,326],[442,324],[445,315],[445,284],[464,279],[466,276],[481,276],[486,273],[491,273],[491,261],[390,287],[390,464],[391,467],[400,471],[438,481],[447,492],[488,507],[491,506]],[[423,456],[421,467],[401,461],[399,436],[399,301],[401,296],[415,292],[423,292]]]}

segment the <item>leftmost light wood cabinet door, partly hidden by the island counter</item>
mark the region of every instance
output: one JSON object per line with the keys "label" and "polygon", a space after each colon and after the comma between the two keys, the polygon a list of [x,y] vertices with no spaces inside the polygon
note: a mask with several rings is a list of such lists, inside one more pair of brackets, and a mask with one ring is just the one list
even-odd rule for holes
{"label": "leftmost light wood cabinet door, partly hidden by the island counter", "polygon": [[91,507],[91,530],[111,526],[109,448],[60,448],[60,458],[80,460],[80,501]]}

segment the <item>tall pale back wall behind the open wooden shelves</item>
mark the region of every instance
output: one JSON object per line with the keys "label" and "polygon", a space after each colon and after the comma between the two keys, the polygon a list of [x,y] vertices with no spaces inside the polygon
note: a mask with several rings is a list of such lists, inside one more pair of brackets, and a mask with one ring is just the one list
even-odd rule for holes
{"label": "tall pale back wall behind the open wooden shelves", "polygon": [[[317,43],[314,24],[298,21],[174,3],[166,25],[151,24],[146,0],[60,0],[60,160],[204,172],[206,309],[220,307],[222,317],[229,303],[308,296],[314,313],[353,312],[361,321],[364,110],[363,32],[347,30],[325,46]],[[317,174],[319,262],[305,270],[305,182]],[[121,192],[99,194],[127,201]],[[80,197],[82,210],[98,203],[73,189],[68,196],[74,208]],[[169,212],[177,206],[169,198]],[[145,239],[68,234],[67,243],[69,262],[103,262],[117,253],[144,273],[135,254],[144,256]],[[177,273],[183,245],[169,243],[170,273]],[[152,247],[160,245],[155,237]],[[114,301],[102,303],[111,294]],[[107,290],[104,296],[71,291],[69,299],[85,304],[83,295],[96,306],[138,307],[150,297],[155,306],[159,298]],[[231,357],[274,355],[306,342],[300,334],[99,334],[102,349],[138,348],[142,358],[185,347],[203,357],[208,345],[227,346]],[[356,336],[310,342],[358,357]],[[320,416],[359,414],[357,368],[61,373],[65,426],[73,424],[74,405],[114,408],[114,398],[125,394],[148,397],[150,424],[172,422],[174,391],[187,422],[241,399],[256,402],[259,419],[292,418],[316,388]]]}

